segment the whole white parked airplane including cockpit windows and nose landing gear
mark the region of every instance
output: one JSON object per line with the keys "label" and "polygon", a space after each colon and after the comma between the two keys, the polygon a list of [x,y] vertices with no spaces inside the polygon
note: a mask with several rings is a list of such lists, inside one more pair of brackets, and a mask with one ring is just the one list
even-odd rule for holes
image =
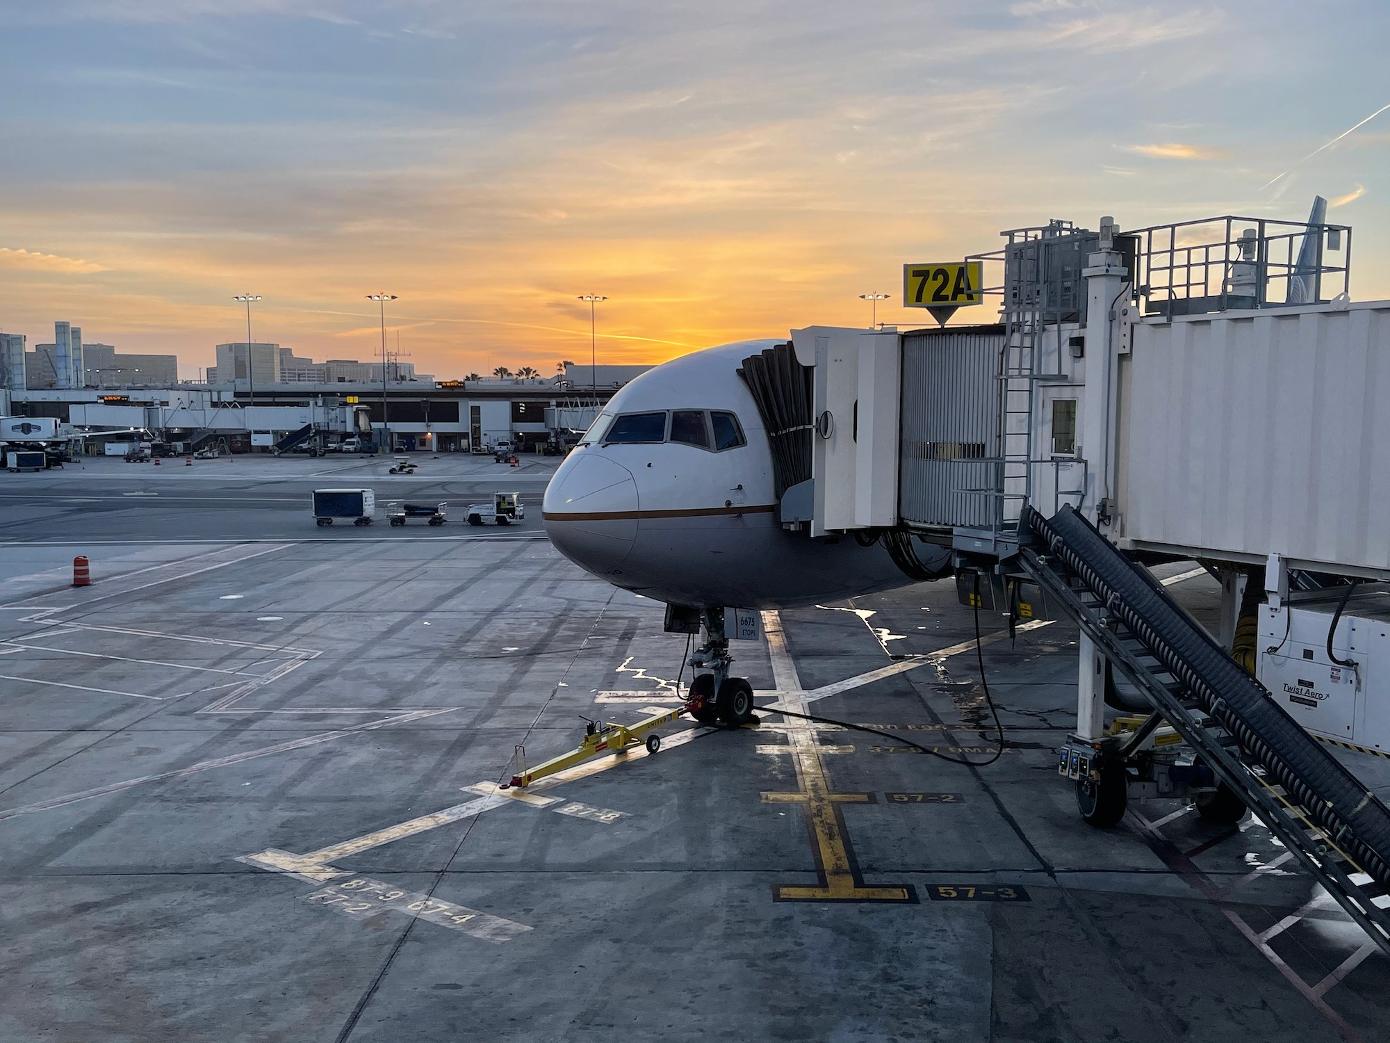
{"label": "whole white parked airplane including cockpit windows and nose landing gear", "polygon": [[810,405],[803,423],[770,434],[741,375],[758,356],[787,371],[799,366],[785,341],[738,341],[628,382],[556,470],[541,508],[560,553],[666,602],[667,631],[703,630],[687,702],[701,722],[739,725],[753,713],[752,686],[728,676],[726,608],[798,608],[951,574],[949,548],[913,541],[899,563],[902,534],[813,540],[783,526],[774,456],[785,458],[785,437],[805,430],[809,474]]}

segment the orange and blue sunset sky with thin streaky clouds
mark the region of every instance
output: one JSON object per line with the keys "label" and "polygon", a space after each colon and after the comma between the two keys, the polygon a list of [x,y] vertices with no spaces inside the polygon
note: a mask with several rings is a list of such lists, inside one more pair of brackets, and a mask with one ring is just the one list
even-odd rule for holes
{"label": "orange and blue sunset sky with thin streaky clouds", "polygon": [[[0,327],[185,377],[245,339],[441,377],[869,324],[1065,217],[1355,227],[1390,296],[1390,6],[43,0],[0,38]],[[1286,172],[1287,171],[1287,172]],[[1284,177],[1279,178],[1282,172]],[[1277,178],[1277,179],[1276,179]],[[1269,184],[1273,181],[1273,184]],[[991,318],[984,307],[958,321]]]}

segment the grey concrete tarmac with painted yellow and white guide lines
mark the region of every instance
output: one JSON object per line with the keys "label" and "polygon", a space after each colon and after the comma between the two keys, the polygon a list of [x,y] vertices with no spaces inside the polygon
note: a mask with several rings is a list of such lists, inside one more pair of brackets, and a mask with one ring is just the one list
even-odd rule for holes
{"label": "grey concrete tarmac with painted yellow and white guide lines", "polygon": [[[949,583],[734,642],[885,734],[680,722],[499,793],[674,706],[684,640],[545,540],[553,460],[414,459],[0,474],[0,1042],[1390,1039],[1390,960],[1259,822],[1080,820],[1074,629],[977,651]],[[450,520],[317,528],[324,487]],[[464,524],[492,491],[528,517]]]}

